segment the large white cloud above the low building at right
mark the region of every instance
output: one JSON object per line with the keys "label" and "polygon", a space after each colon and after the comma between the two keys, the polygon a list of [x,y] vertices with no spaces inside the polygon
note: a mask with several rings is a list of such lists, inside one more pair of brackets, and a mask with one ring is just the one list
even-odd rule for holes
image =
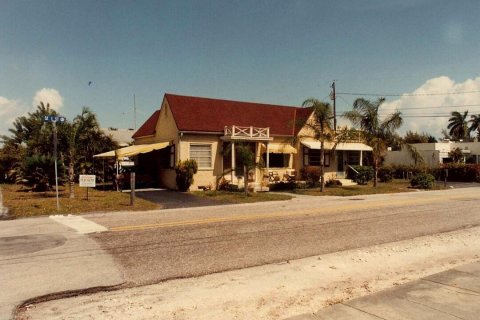
{"label": "large white cloud above the low building at right", "polygon": [[461,83],[456,83],[447,76],[430,79],[397,100],[387,100],[381,107],[381,114],[395,110],[404,115],[400,132],[413,130],[441,137],[441,131],[447,127],[448,115],[452,111],[468,110],[469,115],[480,113],[480,77]]}

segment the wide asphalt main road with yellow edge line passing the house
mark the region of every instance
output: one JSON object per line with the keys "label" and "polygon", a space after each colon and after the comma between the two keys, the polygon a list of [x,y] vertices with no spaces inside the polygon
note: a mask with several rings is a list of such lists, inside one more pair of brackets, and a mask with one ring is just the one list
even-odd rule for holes
{"label": "wide asphalt main road with yellow edge line passing the house", "polygon": [[156,213],[98,214],[92,237],[131,285],[157,283],[480,225],[480,188]]}

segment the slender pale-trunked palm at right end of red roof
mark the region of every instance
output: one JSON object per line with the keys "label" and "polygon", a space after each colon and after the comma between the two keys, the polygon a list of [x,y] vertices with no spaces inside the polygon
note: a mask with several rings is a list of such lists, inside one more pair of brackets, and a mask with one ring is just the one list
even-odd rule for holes
{"label": "slender pale-trunked palm at right end of red roof", "polygon": [[[311,137],[320,141],[320,191],[325,190],[325,143],[333,143],[332,152],[338,143],[347,139],[350,131],[346,128],[335,131],[333,127],[333,113],[332,107],[329,103],[322,102],[315,98],[310,98],[302,103],[305,108],[312,108],[313,117],[306,120],[302,125],[308,132],[305,137]],[[300,139],[303,136],[299,137]]]}

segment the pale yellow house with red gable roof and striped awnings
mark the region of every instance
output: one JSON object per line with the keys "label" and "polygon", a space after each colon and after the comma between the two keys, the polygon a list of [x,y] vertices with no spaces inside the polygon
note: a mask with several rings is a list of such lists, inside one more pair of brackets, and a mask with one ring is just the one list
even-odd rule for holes
{"label": "pale yellow house with red gable roof and striped awnings", "polygon": [[[250,184],[299,179],[302,168],[320,165],[320,143],[298,125],[310,117],[310,108],[167,93],[160,108],[133,135],[134,146],[128,153],[118,150],[117,157],[137,155],[137,172],[169,189],[176,189],[175,164],[186,159],[198,164],[191,190],[215,186],[221,178],[243,185],[236,160],[242,143],[263,164],[249,172]],[[327,149],[332,147],[327,144]],[[363,143],[350,142],[339,144],[335,154],[327,151],[327,177],[343,176],[346,165],[364,163],[371,150]]]}

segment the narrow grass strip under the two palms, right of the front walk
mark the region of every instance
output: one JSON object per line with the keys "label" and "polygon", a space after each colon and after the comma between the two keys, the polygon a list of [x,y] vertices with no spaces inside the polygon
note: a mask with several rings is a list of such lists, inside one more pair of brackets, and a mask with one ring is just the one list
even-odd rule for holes
{"label": "narrow grass strip under the two palms, right of the front walk", "polygon": [[[443,186],[435,186],[434,190],[443,189]],[[392,182],[383,183],[379,182],[377,187],[373,187],[373,182],[369,182],[367,185],[360,186],[333,186],[326,187],[324,192],[320,192],[320,188],[314,189],[297,189],[294,193],[311,195],[311,196],[357,196],[367,194],[382,194],[382,193],[399,193],[399,192],[411,192],[415,189],[410,188],[409,180],[393,180]]]}

